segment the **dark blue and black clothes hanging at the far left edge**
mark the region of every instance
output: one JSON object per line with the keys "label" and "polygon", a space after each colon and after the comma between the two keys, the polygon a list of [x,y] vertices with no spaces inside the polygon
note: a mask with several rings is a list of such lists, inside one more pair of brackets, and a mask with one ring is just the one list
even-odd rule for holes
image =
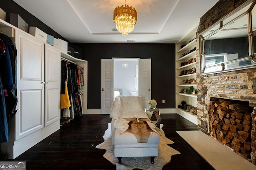
{"label": "dark blue and black clothes hanging at the far left edge", "polygon": [[0,142],[8,136],[7,117],[17,110],[17,50],[10,37],[0,33]]}

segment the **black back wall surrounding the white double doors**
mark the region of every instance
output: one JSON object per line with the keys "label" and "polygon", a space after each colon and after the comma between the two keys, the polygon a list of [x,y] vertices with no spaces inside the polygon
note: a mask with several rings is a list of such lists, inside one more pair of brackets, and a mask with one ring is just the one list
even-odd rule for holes
{"label": "black back wall surrounding the white double doors", "polygon": [[[151,98],[175,108],[175,44],[74,43],[88,61],[88,109],[101,109],[101,59],[151,59]],[[165,104],[162,104],[162,100]]]}

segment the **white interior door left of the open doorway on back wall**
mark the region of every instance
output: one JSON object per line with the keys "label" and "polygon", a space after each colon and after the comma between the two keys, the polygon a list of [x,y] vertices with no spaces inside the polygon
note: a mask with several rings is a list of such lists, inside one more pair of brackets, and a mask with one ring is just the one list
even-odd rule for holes
{"label": "white interior door left of the open doorway on back wall", "polygon": [[101,114],[110,114],[114,101],[114,60],[101,60]]}

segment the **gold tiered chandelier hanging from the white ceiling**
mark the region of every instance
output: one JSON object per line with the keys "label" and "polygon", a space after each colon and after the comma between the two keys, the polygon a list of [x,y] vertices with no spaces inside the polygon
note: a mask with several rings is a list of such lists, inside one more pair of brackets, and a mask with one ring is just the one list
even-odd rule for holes
{"label": "gold tiered chandelier hanging from the white ceiling", "polygon": [[124,5],[117,6],[114,10],[113,18],[116,29],[126,36],[134,29],[137,22],[137,11],[132,6],[126,5],[126,0],[124,0]]}

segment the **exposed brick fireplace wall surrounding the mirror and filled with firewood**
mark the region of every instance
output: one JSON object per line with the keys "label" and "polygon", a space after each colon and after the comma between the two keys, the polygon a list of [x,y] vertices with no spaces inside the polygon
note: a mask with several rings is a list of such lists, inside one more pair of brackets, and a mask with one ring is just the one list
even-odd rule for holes
{"label": "exposed brick fireplace wall surrounding the mirror and filled with firewood", "polygon": [[[256,68],[250,68],[250,69],[244,69],[244,70],[236,70],[236,71],[230,71],[230,72],[222,72],[222,73],[215,73],[215,74],[208,74],[208,75],[200,75],[200,54],[199,54],[199,34],[202,33],[204,30],[206,30],[208,27],[219,21],[224,16],[228,15],[230,12],[238,8],[240,5],[242,5],[247,0],[220,0],[213,8],[211,8],[204,16],[200,18],[200,24],[198,27],[198,33],[196,35],[196,78],[197,78],[197,115],[198,115],[198,129],[204,133],[206,133],[209,136],[212,136],[212,138],[220,141],[223,145],[226,145],[230,149],[234,150],[234,152],[237,152],[250,162],[256,165]],[[212,101],[218,101],[215,103],[220,104],[224,101],[234,101],[234,103],[239,103],[239,101],[247,102],[248,108],[251,107],[252,112],[249,114],[248,112],[242,112],[239,113],[238,118],[234,117],[238,113],[234,113],[232,115],[232,111],[228,111],[225,113],[221,113],[222,110],[217,111],[220,109],[220,107],[224,107],[224,105],[218,107],[214,106],[215,104]],[[214,104],[213,104],[214,103]],[[216,109],[218,107],[218,109]],[[228,106],[229,107],[229,106]],[[214,113],[218,112],[218,118],[213,119],[214,113],[212,111],[215,109]],[[228,108],[229,109],[229,108]],[[237,112],[237,111],[235,111]],[[219,117],[219,115],[221,117]],[[228,114],[228,118],[226,116]],[[242,114],[242,115],[240,115]],[[222,117],[225,115],[224,117]],[[250,115],[250,118],[246,116],[246,121],[250,121],[250,127],[244,126],[247,124],[243,124],[244,121],[244,115]],[[226,120],[229,119],[229,117],[232,116],[232,119],[235,121],[233,124],[231,123],[232,120]],[[230,125],[228,127],[224,127],[222,129],[223,125],[217,125],[220,127],[213,127],[214,121],[216,125],[216,119],[222,119],[220,120],[222,124],[228,123],[230,121]],[[243,119],[242,119],[243,118]],[[238,120],[236,120],[238,119]],[[235,125],[238,123],[238,129],[234,128]],[[235,124],[235,125],[234,125]],[[242,125],[242,129],[241,125]],[[233,125],[233,126],[232,126]],[[238,132],[238,131],[244,131],[245,128],[249,128],[250,130],[246,129],[246,133],[250,133],[248,137],[246,133],[244,132]],[[236,129],[236,134],[234,133],[233,138],[230,136],[231,141],[228,142],[228,139],[225,139],[225,137],[228,135],[228,132],[230,131],[230,128],[233,130]],[[214,130],[213,130],[214,129]],[[213,131],[216,131],[216,129],[219,130],[218,134],[215,132],[215,135]],[[221,131],[221,132],[220,132]],[[237,134],[238,133],[238,134]],[[243,133],[243,135],[241,134]],[[232,135],[229,134],[229,135]],[[218,137],[219,136],[219,137]],[[222,138],[220,138],[222,136]],[[239,137],[242,137],[243,139]],[[224,138],[223,138],[224,137]],[[233,139],[235,138],[235,141],[233,142]],[[213,140],[214,140],[213,139]],[[225,139],[225,141],[224,141]],[[226,141],[227,140],[227,141]],[[246,141],[249,140],[249,141]],[[242,142],[243,143],[242,143]],[[232,143],[233,142],[233,143]],[[231,143],[231,144],[229,144]],[[241,143],[241,144],[238,144]],[[238,144],[238,145],[237,145]],[[242,147],[241,149],[238,147],[236,148],[236,145],[238,147]],[[250,148],[248,147],[250,145]],[[243,150],[244,147],[247,148],[247,150]],[[248,155],[248,150],[250,151]],[[241,152],[246,152],[246,154],[241,154]]]}

